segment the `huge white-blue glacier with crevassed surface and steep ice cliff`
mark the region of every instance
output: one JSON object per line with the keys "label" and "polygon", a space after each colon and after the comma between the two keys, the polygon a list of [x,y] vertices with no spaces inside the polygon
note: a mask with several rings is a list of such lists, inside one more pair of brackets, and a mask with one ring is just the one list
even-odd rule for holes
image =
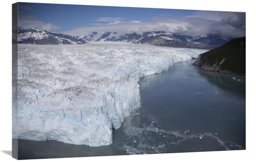
{"label": "huge white-blue glacier with crevassed surface and steep ice cliff", "polygon": [[113,128],[140,106],[140,78],[206,51],[121,42],[18,44],[12,138],[110,145]]}

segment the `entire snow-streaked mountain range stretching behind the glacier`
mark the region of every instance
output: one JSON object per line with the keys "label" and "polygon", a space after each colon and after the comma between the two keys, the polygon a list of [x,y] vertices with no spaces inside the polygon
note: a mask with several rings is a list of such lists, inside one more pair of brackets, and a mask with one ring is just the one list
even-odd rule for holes
{"label": "entire snow-streaked mountain range stretching behind the glacier", "polygon": [[19,44],[86,44],[95,41],[110,41],[212,49],[232,39],[234,38],[214,35],[192,37],[163,31],[132,34],[119,34],[117,32],[105,32],[102,34],[93,32],[91,35],[82,35],[80,37],[51,33],[36,28],[18,28],[17,31],[12,32],[13,43]]}

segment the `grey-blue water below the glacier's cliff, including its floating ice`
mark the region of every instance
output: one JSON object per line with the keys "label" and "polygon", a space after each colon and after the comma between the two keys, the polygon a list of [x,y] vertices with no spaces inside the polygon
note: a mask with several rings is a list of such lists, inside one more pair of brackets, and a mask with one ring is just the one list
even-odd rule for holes
{"label": "grey-blue water below the glacier's cliff, including its floating ice", "polygon": [[19,158],[244,150],[245,77],[202,71],[194,62],[140,80],[141,107],[113,130],[112,145],[19,140]]}

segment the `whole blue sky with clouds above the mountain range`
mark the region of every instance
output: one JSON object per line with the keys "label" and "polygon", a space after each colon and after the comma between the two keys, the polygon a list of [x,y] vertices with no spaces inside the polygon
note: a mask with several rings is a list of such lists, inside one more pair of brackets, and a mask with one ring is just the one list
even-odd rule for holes
{"label": "whole blue sky with clouds above the mountain range", "polygon": [[165,31],[180,35],[245,36],[245,12],[19,3],[18,25],[82,36]]}

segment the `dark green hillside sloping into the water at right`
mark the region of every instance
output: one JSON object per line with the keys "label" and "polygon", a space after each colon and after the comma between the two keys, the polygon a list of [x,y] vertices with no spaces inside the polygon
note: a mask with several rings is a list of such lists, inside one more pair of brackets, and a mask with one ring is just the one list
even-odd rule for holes
{"label": "dark green hillside sloping into the water at right", "polygon": [[193,65],[203,70],[245,75],[245,37],[202,53]]}

